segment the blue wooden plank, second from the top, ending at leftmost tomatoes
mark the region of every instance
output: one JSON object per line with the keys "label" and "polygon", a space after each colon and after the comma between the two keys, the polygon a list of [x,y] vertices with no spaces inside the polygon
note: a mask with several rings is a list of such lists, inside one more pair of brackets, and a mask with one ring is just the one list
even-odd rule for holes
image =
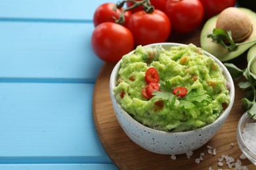
{"label": "blue wooden plank, second from the top, ending at leftmost tomatoes", "polygon": [[93,29],[91,23],[0,22],[0,82],[95,82],[103,61],[91,48]]}

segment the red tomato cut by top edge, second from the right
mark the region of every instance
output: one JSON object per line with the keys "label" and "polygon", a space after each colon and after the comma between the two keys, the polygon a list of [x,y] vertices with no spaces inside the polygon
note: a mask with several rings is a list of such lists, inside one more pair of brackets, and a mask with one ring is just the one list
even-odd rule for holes
{"label": "red tomato cut by top edge, second from the right", "polygon": [[173,31],[190,33],[202,23],[203,5],[200,0],[168,0],[165,13],[171,20]]}

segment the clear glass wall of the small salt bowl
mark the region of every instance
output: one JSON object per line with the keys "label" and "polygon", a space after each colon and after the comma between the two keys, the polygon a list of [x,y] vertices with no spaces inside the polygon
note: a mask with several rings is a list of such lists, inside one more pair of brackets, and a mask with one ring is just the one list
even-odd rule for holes
{"label": "clear glass wall of the small salt bowl", "polygon": [[245,154],[245,156],[248,158],[248,160],[250,160],[251,163],[256,165],[256,153],[253,152],[253,150],[251,150],[251,148],[249,148],[249,146],[245,143],[244,137],[242,135],[245,124],[253,123],[253,122],[256,123],[256,120],[249,118],[248,113],[245,112],[238,122],[236,139],[238,141],[238,146],[240,147],[242,152]]}

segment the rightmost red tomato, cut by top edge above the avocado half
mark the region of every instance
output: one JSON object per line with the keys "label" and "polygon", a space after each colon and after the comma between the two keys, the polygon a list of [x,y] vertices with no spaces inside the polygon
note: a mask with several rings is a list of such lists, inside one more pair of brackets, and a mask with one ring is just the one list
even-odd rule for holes
{"label": "rightmost red tomato, cut by top edge above the avocado half", "polygon": [[236,0],[200,0],[204,9],[204,18],[208,19],[219,14],[228,7],[234,7]]}

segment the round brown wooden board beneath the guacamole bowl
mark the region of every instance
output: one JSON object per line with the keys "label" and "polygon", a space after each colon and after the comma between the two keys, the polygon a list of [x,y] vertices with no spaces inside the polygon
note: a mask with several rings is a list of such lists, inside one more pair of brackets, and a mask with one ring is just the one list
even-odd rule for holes
{"label": "round brown wooden board beneath the guacamole bowl", "polygon": [[[200,31],[195,34],[198,35],[199,33]],[[194,42],[197,46],[200,45],[198,36],[192,37],[191,35],[183,35],[183,37],[175,35],[173,40],[171,39],[170,41],[186,44]],[[244,62],[246,61],[244,60]],[[234,63],[239,62],[234,60]],[[243,62],[242,64],[240,62],[240,65],[244,67]],[[241,99],[244,94],[238,88],[238,82],[235,82],[236,97],[234,107],[217,135],[202,148],[195,150],[192,158],[188,159],[185,154],[181,154],[177,155],[177,160],[171,160],[170,156],[154,154],[140,148],[127,137],[121,126],[119,126],[112,107],[109,90],[110,74],[113,68],[114,64],[105,63],[98,75],[93,96],[93,117],[100,141],[108,156],[119,169],[208,169],[209,167],[213,169],[228,169],[225,163],[223,167],[218,166],[218,158],[224,154],[232,156],[235,160],[239,159],[242,152],[236,142],[236,128],[240,116],[244,112],[241,106]],[[234,146],[231,143],[234,143]],[[217,149],[215,156],[207,153],[207,145]],[[204,160],[198,164],[195,160],[200,157],[202,152],[205,153]],[[242,165],[247,165],[249,169],[256,169],[249,160],[241,161]]]}

